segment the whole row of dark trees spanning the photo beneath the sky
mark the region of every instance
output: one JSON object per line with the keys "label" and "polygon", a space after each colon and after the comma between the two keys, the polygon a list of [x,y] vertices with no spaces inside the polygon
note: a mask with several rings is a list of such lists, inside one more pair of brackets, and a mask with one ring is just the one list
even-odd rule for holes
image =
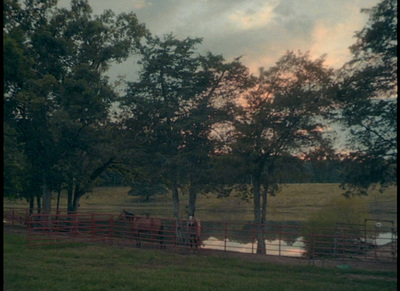
{"label": "whole row of dark trees spanning the photo beneath the sky", "polygon": [[[307,167],[340,168],[348,195],[397,183],[397,2],[363,12],[341,69],[287,51],[255,76],[240,57],[200,54],[200,38],[152,35],[134,13],[5,0],[4,195],[50,213],[65,190],[77,211],[114,172],[133,192],[168,191],[176,218],[183,188],[189,215],[203,191],[241,190],[262,225],[268,195]],[[110,67],[130,56],[138,78],[112,83]],[[331,122],[349,128],[348,152],[334,148]]]}

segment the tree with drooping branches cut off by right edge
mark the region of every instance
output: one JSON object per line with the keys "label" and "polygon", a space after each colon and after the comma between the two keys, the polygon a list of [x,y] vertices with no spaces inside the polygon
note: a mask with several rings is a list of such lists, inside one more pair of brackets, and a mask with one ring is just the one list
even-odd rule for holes
{"label": "tree with drooping branches cut off by right edge", "polygon": [[371,9],[366,26],[355,34],[352,59],[339,71],[340,121],[350,129],[346,194],[366,194],[380,183],[397,183],[397,1]]}

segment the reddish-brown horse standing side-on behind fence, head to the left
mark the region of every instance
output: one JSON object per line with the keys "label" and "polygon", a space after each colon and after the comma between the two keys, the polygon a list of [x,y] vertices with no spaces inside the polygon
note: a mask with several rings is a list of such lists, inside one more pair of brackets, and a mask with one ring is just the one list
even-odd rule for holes
{"label": "reddish-brown horse standing side-on behind fence, head to the left", "polygon": [[136,238],[136,246],[140,247],[141,233],[150,233],[151,238],[156,237],[160,243],[160,248],[165,248],[164,245],[164,225],[161,219],[153,218],[153,217],[138,217],[133,213],[128,212],[126,210],[122,210],[120,216],[120,220],[128,220],[131,222],[132,233]]}

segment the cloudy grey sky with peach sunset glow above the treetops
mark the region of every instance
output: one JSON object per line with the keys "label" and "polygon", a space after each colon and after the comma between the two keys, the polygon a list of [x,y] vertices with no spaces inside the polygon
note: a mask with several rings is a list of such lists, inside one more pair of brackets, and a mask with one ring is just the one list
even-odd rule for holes
{"label": "cloudy grey sky with peach sunset glow above the treetops", "polygon": [[[59,0],[68,7],[69,0]],[[273,66],[286,51],[326,54],[327,66],[340,68],[350,59],[349,46],[378,0],[89,0],[94,14],[111,9],[134,12],[153,35],[179,39],[201,37],[198,51],[238,56],[251,73]],[[134,61],[114,66],[110,77],[134,79]]]}

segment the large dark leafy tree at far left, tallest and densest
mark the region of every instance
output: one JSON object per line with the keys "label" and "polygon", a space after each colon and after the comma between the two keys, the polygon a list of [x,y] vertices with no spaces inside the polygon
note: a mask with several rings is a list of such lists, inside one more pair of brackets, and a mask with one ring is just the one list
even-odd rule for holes
{"label": "large dark leafy tree at far left, tallest and densest", "polygon": [[73,0],[70,10],[56,2],[7,0],[3,6],[4,51],[10,57],[5,123],[24,146],[35,173],[27,184],[41,185],[45,212],[51,192],[60,187],[69,189],[68,208],[76,211],[80,197],[117,160],[108,140],[116,93],[105,72],[133,53],[147,33],[132,13],[107,10],[92,17],[85,0]]}

